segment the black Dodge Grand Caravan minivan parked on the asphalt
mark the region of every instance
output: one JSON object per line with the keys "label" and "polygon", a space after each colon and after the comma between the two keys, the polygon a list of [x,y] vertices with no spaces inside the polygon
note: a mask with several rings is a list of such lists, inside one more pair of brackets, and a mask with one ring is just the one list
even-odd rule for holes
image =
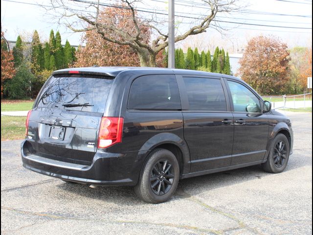
{"label": "black Dodge Grand Caravan minivan parked on the asphalt", "polygon": [[149,203],[179,179],[255,164],[282,172],[291,121],[233,76],[163,68],[54,71],[29,111],[23,166],[65,182],[134,186]]}

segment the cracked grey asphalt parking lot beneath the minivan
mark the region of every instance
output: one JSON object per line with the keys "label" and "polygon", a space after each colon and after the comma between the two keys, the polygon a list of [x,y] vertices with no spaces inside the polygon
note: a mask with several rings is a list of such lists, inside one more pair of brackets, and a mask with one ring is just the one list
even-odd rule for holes
{"label": "cracked grey asphalt parking lot beneath the minivan", "polygon": [[1,234],[312,234],[312,113],[288,113],[294,153],[281,174],[261,166],[181,180],[151,205],[130,187],[89,188],[22,167],[1,142]]}

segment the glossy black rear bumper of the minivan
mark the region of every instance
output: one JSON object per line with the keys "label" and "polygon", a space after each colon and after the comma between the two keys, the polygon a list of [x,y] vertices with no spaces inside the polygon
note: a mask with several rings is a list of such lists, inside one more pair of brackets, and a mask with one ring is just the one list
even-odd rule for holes
{"label": "glossy black rear bumper of the minivan", "polygon": [[91,165],[68,164],[29,153],[25,142],[26,140],[21,144],[22,164],[32,171],[81,184],[137,184],[141,170],[137,152],[116,154],[99,149]]}

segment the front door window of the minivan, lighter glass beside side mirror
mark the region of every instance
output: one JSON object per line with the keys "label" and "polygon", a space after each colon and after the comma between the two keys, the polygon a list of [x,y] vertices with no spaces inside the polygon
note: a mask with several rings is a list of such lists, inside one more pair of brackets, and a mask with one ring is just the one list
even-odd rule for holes
{"label": "front door window of the minivan, lighter glass beside side mirror", "polygon": [[235,112],[261,113],[260,100],[238,82],[227,81]]}

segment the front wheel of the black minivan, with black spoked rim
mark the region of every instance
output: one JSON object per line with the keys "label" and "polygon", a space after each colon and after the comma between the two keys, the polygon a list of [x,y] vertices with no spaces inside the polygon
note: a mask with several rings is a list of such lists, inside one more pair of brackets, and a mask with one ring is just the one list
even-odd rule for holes
{"label": "front wheel of the black minivan, with black spoked rim", "polygon": [[287,166],[290,154],[290,145],[287,137],[278,134],[271,143],[268,160],[262,164],[269,173],[283,172]]}

